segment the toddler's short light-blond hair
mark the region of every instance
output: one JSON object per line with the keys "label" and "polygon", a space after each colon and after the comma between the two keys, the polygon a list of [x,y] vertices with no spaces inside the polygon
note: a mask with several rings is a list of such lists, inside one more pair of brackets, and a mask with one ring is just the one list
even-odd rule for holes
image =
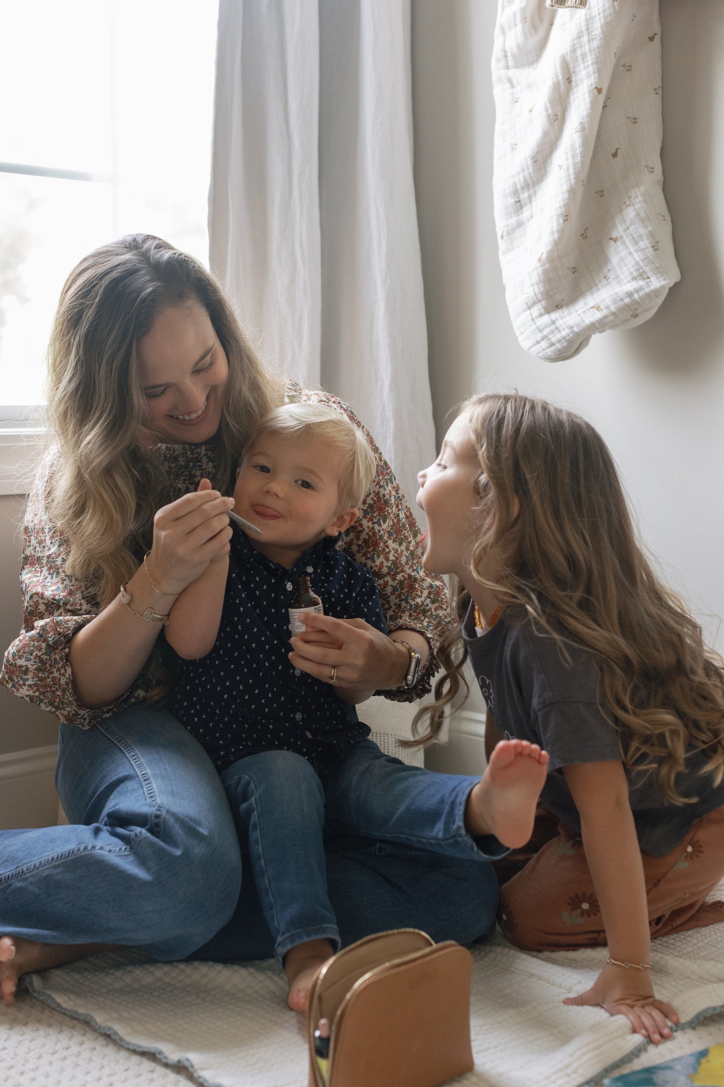
{"label": "toddler's short light-blond hair", "polygon": [[359,509],[377,475],[377,461],[363,432],[342,411],[310,401],[281,404],[264,416],[247,448],[261,434],[328,442],[339,454],[339,510]]}

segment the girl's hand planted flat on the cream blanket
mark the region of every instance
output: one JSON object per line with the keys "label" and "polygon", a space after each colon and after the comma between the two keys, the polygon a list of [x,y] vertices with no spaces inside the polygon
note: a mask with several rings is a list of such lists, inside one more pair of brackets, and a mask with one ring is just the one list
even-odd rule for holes
{"label": "girl's hand planted flat on the cream blanket", "polygon": [[671,1038],[670,1023],[678,1025],[678,1015],[671,1004],[657,1000],[648,971],[628,970],[607,964],[595,985],[579,997],[566,997],[564,1004],[587,1007],[599,1004],[609,1015],[625,1015],[632,1030],[658,1046]]}

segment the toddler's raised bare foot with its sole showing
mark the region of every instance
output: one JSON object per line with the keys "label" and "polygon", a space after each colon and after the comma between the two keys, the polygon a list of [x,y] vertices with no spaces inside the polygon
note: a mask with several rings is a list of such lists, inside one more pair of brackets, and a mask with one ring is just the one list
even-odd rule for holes
{"label": "toddler's raised bare foot with its sole showing", "polygon": [[520,849],[533,833],[535,808],[548,773],[548,752],[528,740],[500,740],[485,773],[468,796],[466,829],[473,838],[492,834]]}

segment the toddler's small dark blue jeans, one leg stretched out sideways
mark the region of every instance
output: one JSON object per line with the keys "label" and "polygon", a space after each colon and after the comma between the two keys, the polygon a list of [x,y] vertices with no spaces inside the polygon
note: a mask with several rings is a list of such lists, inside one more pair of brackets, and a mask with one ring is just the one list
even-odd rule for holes
{"label": "toddler's small dark blue jeans, one leg stretched out sideways", "polygon": [[326,821],[331,840],[371,839],[462,861],[486,862],[507,852],[495,838],[484,842],[490,852],[482,852],[465,829],[466,800],[478,778],[406,766],[371,740],[357,745],[326,787],[307,760],[291,751],[247,755],[221,780],[279,962],[306,940],[341,946],[328,894]]}

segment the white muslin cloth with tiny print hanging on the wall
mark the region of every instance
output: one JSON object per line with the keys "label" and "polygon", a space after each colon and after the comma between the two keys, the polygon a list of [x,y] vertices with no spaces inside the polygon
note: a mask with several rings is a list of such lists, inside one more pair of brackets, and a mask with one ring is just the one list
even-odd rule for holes
{"label": "white muslin cloth with tiny print hanging on the wall", "polygon": [[658,0],[499,0],[494,205],[521,345],[569,359],[679,278],[661,172]]}

